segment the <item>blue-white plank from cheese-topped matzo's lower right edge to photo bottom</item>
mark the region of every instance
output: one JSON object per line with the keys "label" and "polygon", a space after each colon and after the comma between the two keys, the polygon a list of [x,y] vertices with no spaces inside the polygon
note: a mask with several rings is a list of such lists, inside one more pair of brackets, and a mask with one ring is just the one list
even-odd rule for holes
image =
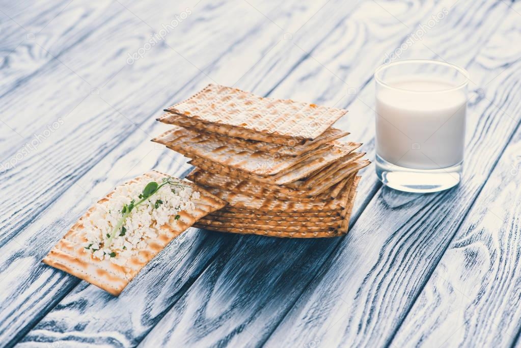
{"label": "blue-white plank from cheese-topped matzo's lower right edge to photo bottom", "polygon": [[117,299],[80,282],[18,346],[56,341],[68,346],[137,345],[214,255],[226,248],[224,242],[216,234],[190,229],[153,259]]}

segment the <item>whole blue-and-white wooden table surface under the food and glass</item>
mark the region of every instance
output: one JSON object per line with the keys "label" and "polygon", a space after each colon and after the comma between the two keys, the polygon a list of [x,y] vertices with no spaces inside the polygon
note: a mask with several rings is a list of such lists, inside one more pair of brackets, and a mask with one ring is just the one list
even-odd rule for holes
{"label": "whole blue-and-white wooden table surface under the food and glass", "polygon": [[[520,32],[507,0],[3,0],[0,345],[521,346]],[[149,140],[208,83],[349,109],[373,159],[392,52],[470,72],[458,187],[395,192],[371,165],[345,237],[192,228],[119,297],[41,263],[118,183],[190,168]]]}

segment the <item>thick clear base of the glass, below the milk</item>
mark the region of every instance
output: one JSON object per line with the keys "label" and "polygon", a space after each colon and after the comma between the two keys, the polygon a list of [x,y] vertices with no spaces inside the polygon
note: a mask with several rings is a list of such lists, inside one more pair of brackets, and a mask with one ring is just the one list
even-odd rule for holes
{"label": "thick clear base of the glass, below the milk", "polygon": [[415,193],[438,192],[460,183],[463,161],[440,169],[411,169],[396,166],[376,155],[376,175],[395,190]]}

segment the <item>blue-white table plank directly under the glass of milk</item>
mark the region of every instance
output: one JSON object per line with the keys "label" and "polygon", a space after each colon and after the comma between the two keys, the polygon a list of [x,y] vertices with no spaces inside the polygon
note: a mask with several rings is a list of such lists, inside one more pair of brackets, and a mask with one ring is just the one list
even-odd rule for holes
{"label": "blue-white table plank directly under the glass of milk", "polygon": [[[470,67],[474,81],[485,85],[516,61],[521,52],[501,40],[516,28],[502,28],[493,36]],[[490,101],[510,115],[521,108],[509,97],[519,88],[518,71],[518,63],[508,66],[487,85],[493,91],[487,96]],[[315,339],[324,346],[388,343],[517,127],[491,102],[478,97],[470,104],[460,187],[422,196],[381,190],[268,345],[302,345]]]}

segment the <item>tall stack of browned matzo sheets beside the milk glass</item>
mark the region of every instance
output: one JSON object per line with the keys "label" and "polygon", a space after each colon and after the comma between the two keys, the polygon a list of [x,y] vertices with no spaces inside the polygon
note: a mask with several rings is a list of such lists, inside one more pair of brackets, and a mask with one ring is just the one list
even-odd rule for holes
{"label": "tall stack of browned matzo sheets beside the milk glass", "polygon": [[348,230],[361,144],[331,125],[347,111],[275,100],[220,85],[168,109],[175,125],[153,139],[191,158],[188,179],[228,202],[196,227],[274,237],[334,237]]}

